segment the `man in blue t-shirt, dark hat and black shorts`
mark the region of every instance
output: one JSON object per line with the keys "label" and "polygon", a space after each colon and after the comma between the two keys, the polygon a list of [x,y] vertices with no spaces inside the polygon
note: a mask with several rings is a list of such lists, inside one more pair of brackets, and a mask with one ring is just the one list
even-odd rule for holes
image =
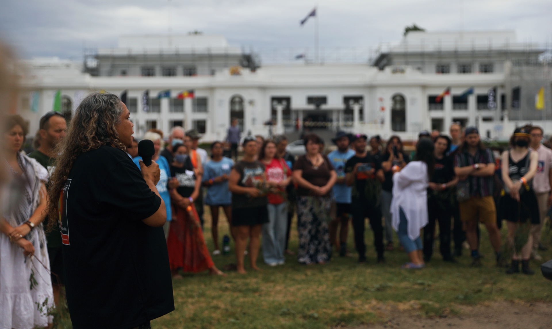
{"label": "man in blue t-shirt, dark hat and black shorts", "polygon": [[[349,136],[344,131],[338,131],[332,142],[337,145],[337,150],[328,154],[328,159],[336,169],[337,181],[333,185],[333,195],[336,198],[336,218],[330,222],[330,241],[339,250],[339,256],[347,254],[347,234],[349,229],[349,217],[351,217],[351,190],[352,187],[345,183],[345,164],[355,152],[349,148]],[[337,229],[339,231],[339,245],[337,244]]]}

